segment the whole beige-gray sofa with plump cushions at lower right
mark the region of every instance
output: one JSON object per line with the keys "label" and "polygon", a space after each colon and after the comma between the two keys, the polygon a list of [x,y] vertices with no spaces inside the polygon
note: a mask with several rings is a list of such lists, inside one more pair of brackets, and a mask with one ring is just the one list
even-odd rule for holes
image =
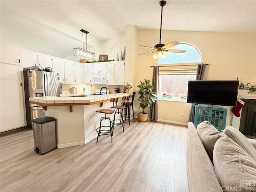
{"label": "whole beige-gray sofa with plump cushions at lower right", "polygon": [[[244,149],[240,150],[240,146],[238,146],[238,144],[236,144],[233,140],[230,139],[230,137],[232,136],[227,136],[229,134],[229,131],[230,130],[233,131],[233,130],[228,129],[226,131],[227,133],[226,135],[224,133],[221,133],[215,130],[214,126],[210,124],[210,122],[205,121],[205,122],[202,122],[201,124],[202,124],[201,130],[199,130],[198,128],[198,126],[200,127],[200,124],[197,126],[198,128],[197,130],[192,122],[188,122],[188,143],[187,143],[187,151],[186,151],[186,164],[187,164],[189,191],[190,192],[223,192],[223,191],[235,191],[235,190],[239,190],[242,192],[256,191],[256,185],[252,186],[254,184],[254,181],[256,184],[256,159],[254,159],[255,157],[251,158],[251,156],[247,156],[247,152]],[[209,130],[210,130],[210,133],[209,133]],[[205,132],[207,132],[207,134],[205,134]],[[234,131],[234,132],[239,132],[239,131]],[[214,138],[212,138],[212,136],[214,136]],[[209,137],[210,137],[210,140],[213,139],[214,142],[212,141],[210,142],[209,140],[206,139]],[[203,141],[200,138],[202,138]],[[209,142],[209,145],[207,142]],[[231,172],[232,168],[234,167],[234,164],[230,164],[230,162],[231,163],[234,162],[235,164],[238,164],[238,166],[240,166],[241,168],[240,161],[242,158],[242,164],[243,164],[244,162],[243,157],[240,158],[234,155],[234,157],[233,156],[231,157],[233,159],[228,160],[227,162],[225,162],[224,160],[222,161],[221,158],[222,157],[226,158],[226,154],[232,154],[230,152],[226,153],[224,151],[225,148],[228,148],[228,147],[226,146],[221,147],[224,145],[223,142],[230,143],[231,145],[230,148],[232,148],[231,150],[233,150],[233,148],[238,148],[238,151],[240,151],[242,155],[246,156],[245,157],[246,162],[249,161],[250,170],[248,172],[250,173],[250,176],[249,176],[250,179],[248,179],[247,172],[246,172],[246,176],[242,175],[242,177],[237,176],[236,175],[238,174],[237,172],[234,172],[234,174],[232,174]],[[256,149],[255,149],[256,140],[251,140],[251,142],[253,142],[254,148],[252,147],[251,144],[249,144],[250,145],[249,150],[252,151],[252,156],[254,156],[256,154]],[[211,145],[212,145],[212,149],[209,150],[209,148],[211,148]],[[250,147],[252,147],[253,149],[251,149]],[[235,151],[234,153],[236,154],[237,152]],[[212,160],[210,159],[210,156],[213,156],[211,157]],[[216,163],[216,166],[214,166],[214,163]],[[230,168],[230,166],[233,166],[233,167]],[[218,169],[216,169],[217,167]],[[229,175],[233,175],[234,178],[232,176],[229,178]],[[224,181],[222,180],[223,176],[224,176]],[[236,177],[239,177],[240,180],[252,181],[252,183],[250,184],[251,186],[249,186],[248,188],[241,188],[241,186],[238,186],[239,188],[236,188],[236,189],[228,188],[232,190],[227,190],[226,186],[233,186],[233,183],[230,184],[230,182],[233,182],[234,180],[236,180]],[[239,185],[239,183],[236,183],[236,185]]]}

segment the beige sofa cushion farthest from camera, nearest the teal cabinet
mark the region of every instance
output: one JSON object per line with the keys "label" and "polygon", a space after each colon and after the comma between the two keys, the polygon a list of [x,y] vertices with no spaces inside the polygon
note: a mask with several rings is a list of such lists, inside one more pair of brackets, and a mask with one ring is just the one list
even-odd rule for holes
{"label": "beige sofa cushion farthest from camera, nearest the teal cabinet", "polygon": [[219,132],[214,127],[214,125],[211,124],[209,121],[204,121],[198,124],[196,131],[202,141],[202,144],[204,145],[204,148],[210,160],[213,162],[212,152],[213,152],[214,144],[219,138],[226,135],[223,134],[222,132]]}

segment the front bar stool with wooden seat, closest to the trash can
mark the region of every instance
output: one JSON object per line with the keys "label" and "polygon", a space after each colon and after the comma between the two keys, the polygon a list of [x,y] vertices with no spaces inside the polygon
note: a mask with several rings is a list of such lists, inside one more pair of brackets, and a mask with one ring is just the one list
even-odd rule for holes
{"label": "front bar stool with wooden seat, closest to the trash can", "polygon": [[[118,102],[118,98],[112,98],[110,99],[110,102],[113,103],[113,107],[116,105],[117,106],[117,102]],[[116,109],[117,110],[117,109]],[[115,108],[114,110],[111,110],[111,109],[100,109],[100,110],[97,110],[96,112],[98,113],[103,113],[105,114],[105,117],[101,117],[100,118],[100,127],[97,128],[97,132],[98,132],[98,136],[97,136],[97,141],[98,142],[98,137],[100,135],[110,135],[111,136],[111,142],[112,142],[112,135],[113,135],[113,126],[111,125],[111,119],[110,119],[110,116],[106,116],[107,114],[112,114],[115,112]],[[109,120],[109,126],[102,126],[102,120]],[[109,129],[103,129],[103,127],[108,127]]]}

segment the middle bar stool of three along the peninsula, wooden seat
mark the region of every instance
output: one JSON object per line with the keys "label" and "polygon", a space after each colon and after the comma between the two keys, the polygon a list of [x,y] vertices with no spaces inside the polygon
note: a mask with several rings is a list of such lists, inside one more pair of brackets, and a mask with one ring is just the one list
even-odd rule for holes
{"label": "middle bar stool of three along the peninsula, wooden seat", "polygon": [[[129,100],[128,98],[129,98],[129,96],[123,96],[122,97],[122,100],[124,100],[124,103],[128,102],[128,100]],[[116,105],[116,106],[113,106],[111,108],[116,109],[116,112],[114,113],[114,120],[112,120],[113,128],[114,128],[114,126],[120,126],[120,127],[123,128],[123,132],[124,132],[125,120],[123,118],[123,110],[126,108],[126,105]],[[116,119],[116,115],[119,115],[120,118]]]}

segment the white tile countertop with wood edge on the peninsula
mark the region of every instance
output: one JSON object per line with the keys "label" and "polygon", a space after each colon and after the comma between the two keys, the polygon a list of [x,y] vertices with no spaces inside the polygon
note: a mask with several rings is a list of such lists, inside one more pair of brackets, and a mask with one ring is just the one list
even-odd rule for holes
{"label": "white tile countertop with wood edge on the peninsula", "polygon": [[[31,97],[29,98],[31,103],[40,103],[43,106],[58,106],[58,104],[96,104],[100,101],[106,102],[111,98],[120,98],[123,96],[128,96],[130,93],[116,93],[116,94],[107,94],[107,95],[96,95],[96,96],[86,96],[85,94],[68,94],[61,97],[56,96],[45,96],[45,97]],[[72,97],[72,96],[81,96],[81,97]],[[104,101],[105,100],[105,101]],[[54,104],[54,105],[53,105]]]}

